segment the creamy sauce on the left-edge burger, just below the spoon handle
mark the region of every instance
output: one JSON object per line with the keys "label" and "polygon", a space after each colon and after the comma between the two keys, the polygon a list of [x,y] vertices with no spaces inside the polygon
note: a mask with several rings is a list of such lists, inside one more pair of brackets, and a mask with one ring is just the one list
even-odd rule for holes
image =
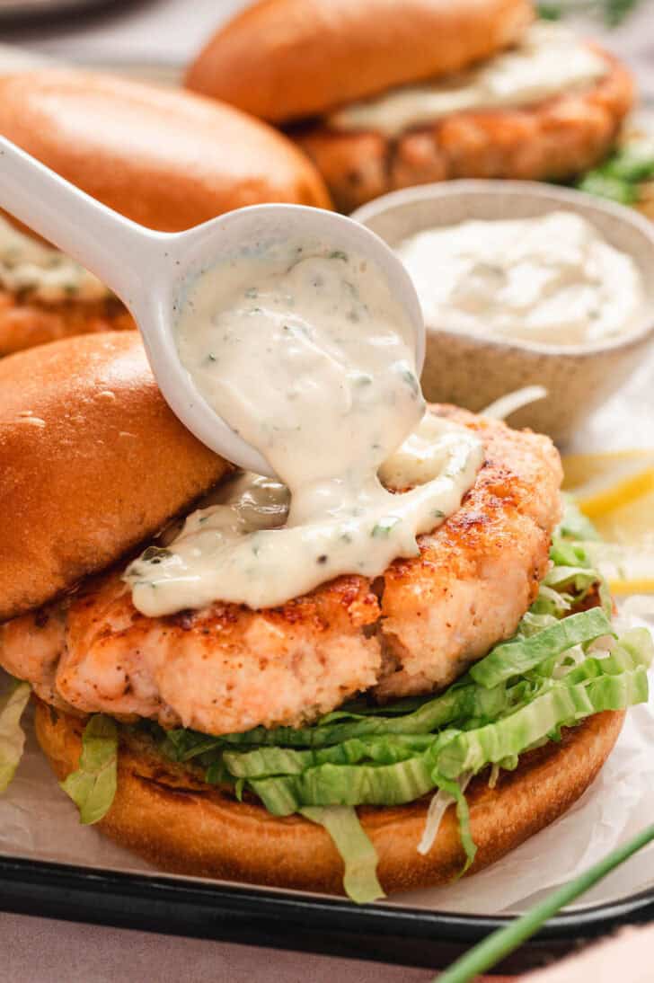
{"label": "creamy sauce on the left-edge burger, just below the spoon handle", "polygon": [[31,239],[1,217],[0,286],[50,304],[109,296],[107,287],[79,262]]}

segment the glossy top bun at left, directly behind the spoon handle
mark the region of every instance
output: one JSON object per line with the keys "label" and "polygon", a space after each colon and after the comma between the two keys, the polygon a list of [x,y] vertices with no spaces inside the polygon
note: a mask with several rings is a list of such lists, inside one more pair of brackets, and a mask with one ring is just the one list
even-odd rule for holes
{"label": "glossy top bun at left, directly behind the spoon handle", "polygon": [[258,202],[329,206],[314,165],[281,134],[171,88],[58,69],[1,78],[0,133],[162,232]]}

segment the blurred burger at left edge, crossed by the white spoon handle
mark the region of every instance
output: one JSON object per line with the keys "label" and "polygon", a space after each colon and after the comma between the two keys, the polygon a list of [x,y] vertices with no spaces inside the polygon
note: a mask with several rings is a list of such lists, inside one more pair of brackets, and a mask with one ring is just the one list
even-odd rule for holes
{"label": "blurred burger at left edge, crossed by the white spoon handle", "polygon": [[[311,162],[281,134],[189,92],[73,70],[21,72],[0,78],[0,134],[162,232],[245,204],[330,203]],[[88,270],[0,217],[0,355],[134,326]]]}

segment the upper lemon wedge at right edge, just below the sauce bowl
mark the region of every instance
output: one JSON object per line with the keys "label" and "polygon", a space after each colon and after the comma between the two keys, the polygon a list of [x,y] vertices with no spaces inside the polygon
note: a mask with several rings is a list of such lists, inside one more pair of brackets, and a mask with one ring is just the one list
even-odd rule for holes
{"label": "upper lemon wedge at right edge, just below the sauce bowl", "polygon": [[593,520],[654,492],[654,450],[571,454],[564,470],[565,491],[574,494],[581,511]]}

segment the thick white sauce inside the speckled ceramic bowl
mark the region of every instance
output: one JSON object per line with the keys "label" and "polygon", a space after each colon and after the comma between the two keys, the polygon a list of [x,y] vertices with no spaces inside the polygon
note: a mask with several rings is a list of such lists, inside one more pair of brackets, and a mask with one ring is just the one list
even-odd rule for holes
{"label": "thick white sauce inside the speckled ceramic bowl", "polygon": [[432,328],[580,345],[642,322],[636,263],[573,212],[427,229],[397,253]]}

